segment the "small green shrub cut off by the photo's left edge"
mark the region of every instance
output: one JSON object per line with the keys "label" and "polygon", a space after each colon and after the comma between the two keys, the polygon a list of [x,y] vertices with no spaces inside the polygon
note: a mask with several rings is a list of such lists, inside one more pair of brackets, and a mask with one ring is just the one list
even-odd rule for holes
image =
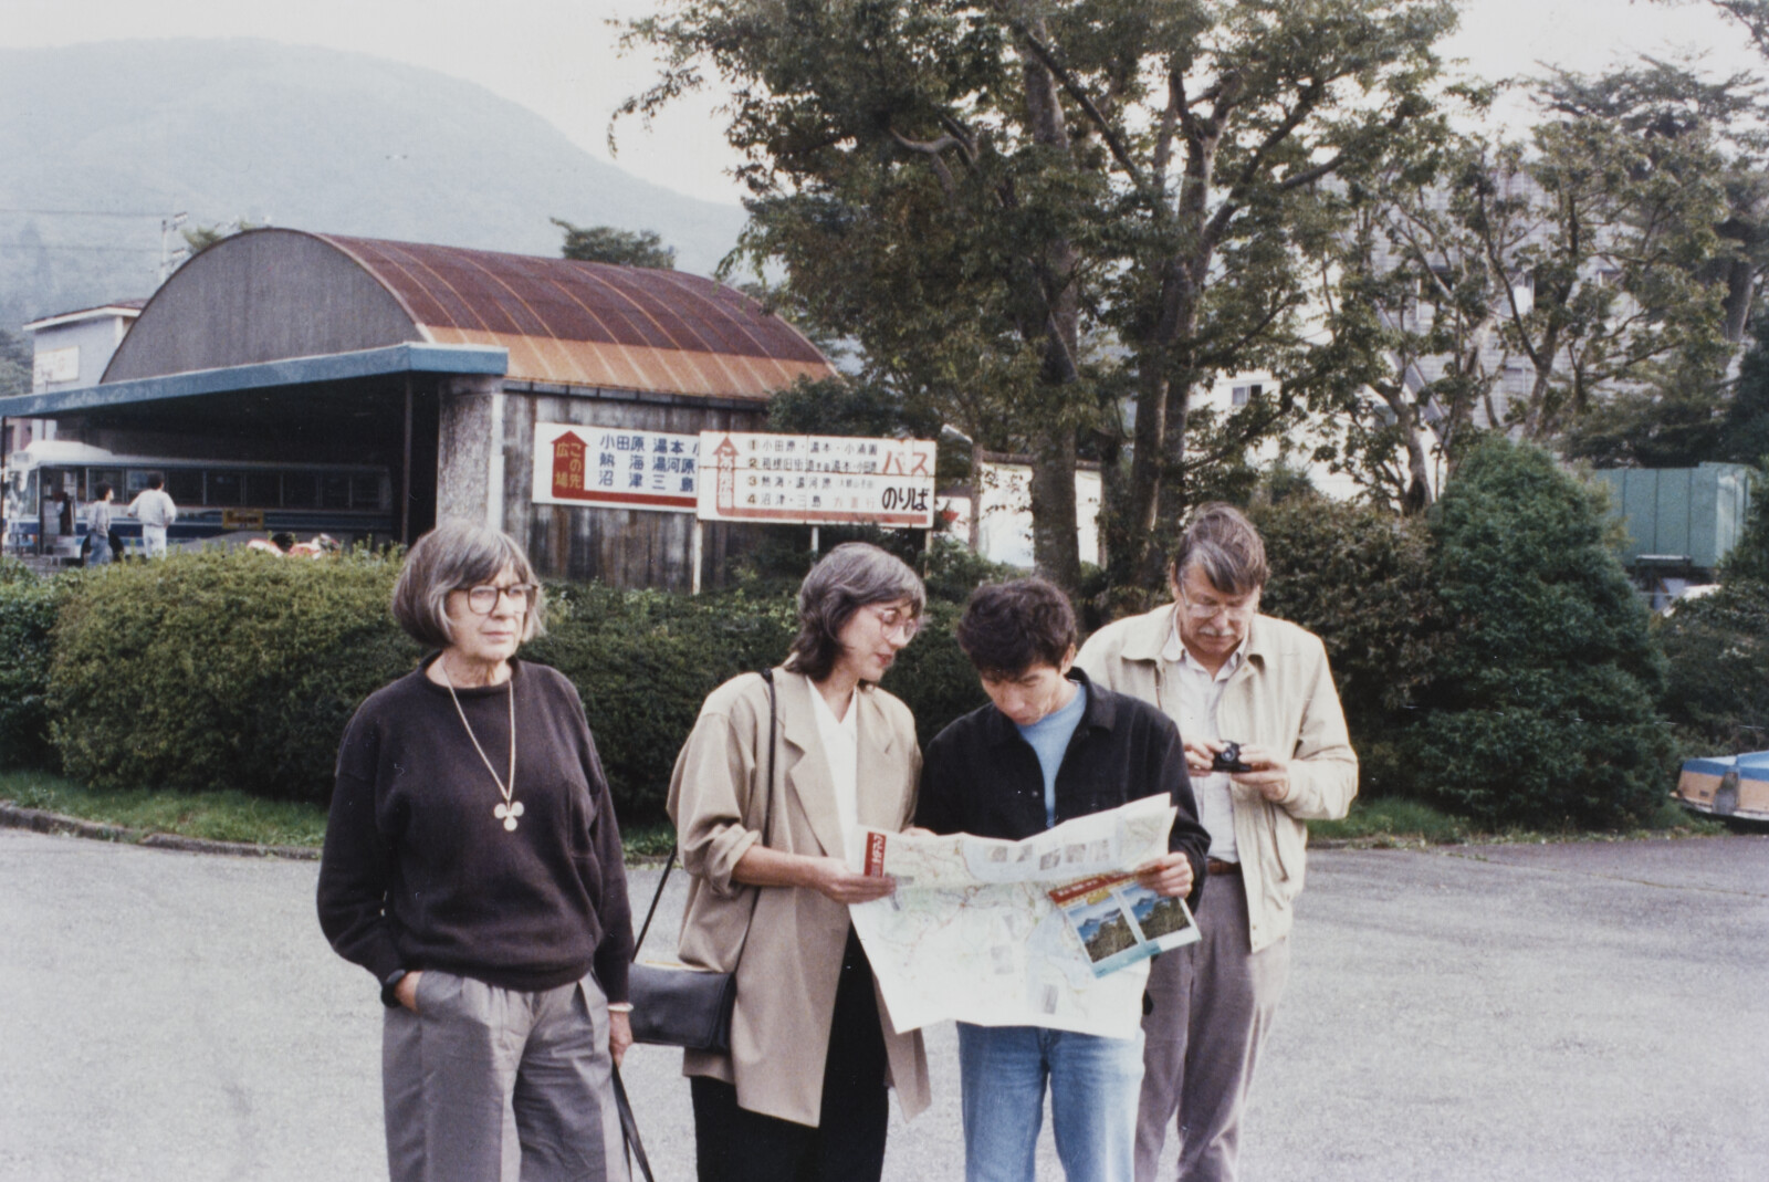
{"label": "small green shrub cut off by the photo's left edge", "polygon": [[67,579],[37,579],[16,559],[0,561],[0,768],[55,766],[50,637]]}

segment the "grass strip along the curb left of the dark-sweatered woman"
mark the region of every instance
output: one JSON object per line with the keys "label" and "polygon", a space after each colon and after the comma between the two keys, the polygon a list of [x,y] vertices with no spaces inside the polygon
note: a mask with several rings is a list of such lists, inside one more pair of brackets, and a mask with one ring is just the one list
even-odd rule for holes
{"label": "grass strip along the curb left of the dark-sweatered woman", "polygon": [[255,846],[318,846],[325,839],[325,810],[320,805],[260,800],[241,791],[94,789],[46,771],[7,771],[0,773],[0,800],[142,833]]}

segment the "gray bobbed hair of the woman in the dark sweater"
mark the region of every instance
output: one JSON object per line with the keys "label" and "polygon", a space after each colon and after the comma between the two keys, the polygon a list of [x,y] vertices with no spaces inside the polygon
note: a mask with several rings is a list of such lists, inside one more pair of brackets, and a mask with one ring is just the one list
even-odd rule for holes
{"label": "gray bobbed hair of the woman in the dark sweater", "polygon": [[[534,564],[515,538],[474,522],[442,522],[412,545],[398,582],[393,584],[393,618],[419,644],[448,648],[455,630],[448,619],[448,593],[492,582],[509,568],[517,582],[540,584]],[[547,630],[547,591],[534,593],[522,639]]]}

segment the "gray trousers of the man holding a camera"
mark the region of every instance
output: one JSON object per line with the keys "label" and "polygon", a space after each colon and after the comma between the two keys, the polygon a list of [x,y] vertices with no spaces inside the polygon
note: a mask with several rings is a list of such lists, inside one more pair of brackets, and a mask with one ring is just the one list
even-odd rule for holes
{"label": "gray trousers of the man holding a camera", "polygon": [[1168,1122],[1178,1113],[1183,1182],[1235,1182],[1240,1113],[1260,1044],[1290,980],[1290,940],[1252,954],[1247,888],[1217,874],[1198,906],[1198,943],[1162,952],[1148,975],[1136,1182],[1155,1182]]}

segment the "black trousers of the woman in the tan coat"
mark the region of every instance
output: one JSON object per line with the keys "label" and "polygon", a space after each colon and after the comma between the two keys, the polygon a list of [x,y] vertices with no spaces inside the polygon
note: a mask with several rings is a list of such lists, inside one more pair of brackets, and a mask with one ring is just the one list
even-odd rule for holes
{"label": "black trousers of the woman in the tan coat", "polygon": [[872,964],[847,931],[835,987],[817,1127],[738,1108],[738,1090],[695,1076],[693,1161],[701,1182],[877,1182],[884,1171],[884,1032]]}

